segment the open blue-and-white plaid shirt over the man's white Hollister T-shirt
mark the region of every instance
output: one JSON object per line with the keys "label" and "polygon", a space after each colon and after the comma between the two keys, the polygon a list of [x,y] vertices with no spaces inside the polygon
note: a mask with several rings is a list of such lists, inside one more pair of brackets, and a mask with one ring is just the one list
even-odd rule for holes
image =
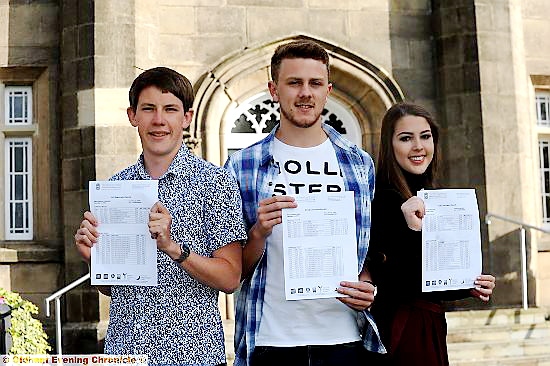
{"label": "open blue-and-white plaid shirt over the man's white Hollister T-shirt", "polygon": [[[370,206],[374,195],[374,164],[371,157],[332,127],[323,124],[323,129],[336,151],[338,164],[344,175],[346,190],[355,192],[355,220],[357,223],[358,272],[363,268],[367,255],[370,232]],[[257,221],[258,203],[270,197],[270,182],[275,180],[278,168],[273,160],[274,128],[263,140],[231,155],[225,168],[237,179],[243,199],[244,220],[247,230]],[[252,276],[241,284],[235,310],[235,366],[248,365],[260,329],[265,292],[266,251],[260,258]],[[370,313],[359,312],[358,323],[362,327],[363,341],[369,350],[385,353],[378,329]]]}

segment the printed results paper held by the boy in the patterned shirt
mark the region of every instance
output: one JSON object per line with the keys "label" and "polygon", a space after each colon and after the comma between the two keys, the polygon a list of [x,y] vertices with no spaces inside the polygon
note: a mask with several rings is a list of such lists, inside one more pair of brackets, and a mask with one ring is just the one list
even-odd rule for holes
{"label": "printed results paper held by the boy in the patterned shirt", "polygon": [[147,223],[158,181],[90,181],[89,200],[100,233],[92,247],[91,284],[156,286],[157,244]]}

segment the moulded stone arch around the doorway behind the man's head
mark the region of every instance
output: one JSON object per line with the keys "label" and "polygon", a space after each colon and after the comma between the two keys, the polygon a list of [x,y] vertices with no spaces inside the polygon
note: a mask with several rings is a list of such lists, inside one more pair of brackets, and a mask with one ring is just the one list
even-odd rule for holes
{"label": "moulded stone arch around the doorway behind the man's head", "polygon": [[269,65],[277,46],[295,39],[321,44],[331,58],[331,97],[346,106],[361,129],[362,147],[378,152],[380,121],[386,109],[403,100],[397,83],[381,68],[336,45],[307,36],[294,36],[256,48],[247,48],[220,62],[197,82],[196,118],[191,137],[199,141],[197,153],[215,164],[227,158],[225,134],[231,112],[250,97],[267,90]]}

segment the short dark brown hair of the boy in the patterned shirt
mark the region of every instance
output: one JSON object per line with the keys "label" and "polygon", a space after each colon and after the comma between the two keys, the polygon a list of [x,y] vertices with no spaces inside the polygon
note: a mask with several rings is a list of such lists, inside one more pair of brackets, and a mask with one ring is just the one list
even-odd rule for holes
{"label": "short dark brown hair of the boy in the patterned shirt", "polygon": [[142,72],[132,83],[129,92],[130,107],[135,111],[142,90],[156,86],[163,93],[172,93],[183,104],[185,112],[193,107],[195,95],[191,82],[179,72],[167,67],[155,67]]}

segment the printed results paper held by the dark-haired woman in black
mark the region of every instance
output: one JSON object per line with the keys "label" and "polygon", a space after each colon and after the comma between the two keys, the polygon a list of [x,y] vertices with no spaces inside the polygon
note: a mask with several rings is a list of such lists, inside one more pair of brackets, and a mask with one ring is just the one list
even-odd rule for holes
{"label": "printed results paper held by the dark-haired woman in black", "polygon": [[475,287],[481,274],[479,209],[474,189],[422,190],[422,291]]}

